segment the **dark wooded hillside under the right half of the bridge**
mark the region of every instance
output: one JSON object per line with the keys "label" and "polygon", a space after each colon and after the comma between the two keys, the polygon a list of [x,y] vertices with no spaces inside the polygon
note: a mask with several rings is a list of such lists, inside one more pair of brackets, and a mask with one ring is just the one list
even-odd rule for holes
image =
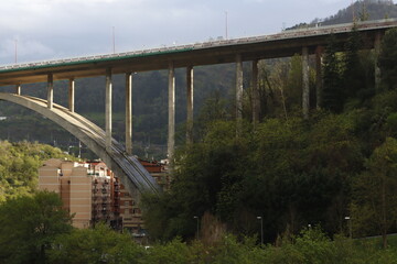
{"label": "dark wooded hillside under the right half of the bridge", "polygon": [[[330,40],[323,110],[313,108],[309,120],[301,118],[299,101],[289,94],[299,84],[293,80],[299,78],[293,74],[298,58],[279,62],[270,72],[262,68],[266,112],[255,129],[249,120],[217,119],[225,112],[223,105],[210,101],[218,113],[204,111],[201,136],[179,150],[171,191],[143,199],[151,234],[192,238],[193,217],[204,216],[203,238],[212,235],[213,226],[253,235],[261,217],[271,242],[308,224],[321,224],[330,234],[346,233],[350,217],[354,237],[383,234],[386,246],[397,217],[397,73],[391,66],[397,63],[397,31],[384,37],[378,87],[366,68],[374,56],[360,51],[357,37],[353,30],[343,54]],[[282,75],[278,68],[289,70]],[[245,108],[250,108],[249,100]],[[205,220],[208,215],[215,223]]]}

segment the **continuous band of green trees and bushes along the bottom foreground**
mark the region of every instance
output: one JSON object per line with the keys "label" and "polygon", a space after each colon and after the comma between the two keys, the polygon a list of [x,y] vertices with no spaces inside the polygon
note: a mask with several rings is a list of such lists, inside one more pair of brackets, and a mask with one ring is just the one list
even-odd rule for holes
{"label": "continuous band of green trees and bushes along the bottom foreground", "polygon": [[119,233],[104,224],[73,229],[60,197],[40,191],[33,196],[0,204],[0,263],[376,263],[393,264],[396,244],[378,250],[376,239],[354,241],[343,237],[330,240],[313,227],[298,235],[285,235],[277,245],[258,245],[255,239],[224,235],[216,244],[201,241],[186,244],[180,239],[143,246],[128,232]]}

